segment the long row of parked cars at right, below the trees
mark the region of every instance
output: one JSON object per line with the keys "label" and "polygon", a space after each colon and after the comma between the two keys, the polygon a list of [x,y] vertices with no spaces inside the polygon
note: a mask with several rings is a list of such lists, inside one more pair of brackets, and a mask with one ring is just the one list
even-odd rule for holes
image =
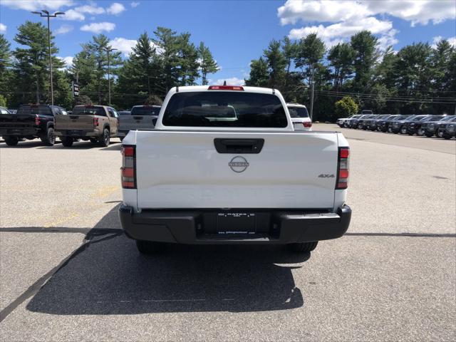
{"label": "long row of parked cars at right, below the trees", "polygon": [[455,115],[351,115],[337,120],[341,128],[378,130],[395,134],[425,135],[428,138],[455,137]]}

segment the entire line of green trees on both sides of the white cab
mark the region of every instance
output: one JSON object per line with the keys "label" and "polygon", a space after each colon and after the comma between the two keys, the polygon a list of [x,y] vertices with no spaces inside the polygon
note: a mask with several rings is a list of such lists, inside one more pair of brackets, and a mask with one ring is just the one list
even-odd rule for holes
{"label": "entire line of green trees on both sides of the white cab", "polygon": [[[14,41],[19,47],[11,51],[0,34],[0,102],[11,108],[50,102],[47,28],[26,21]],[[56,57],[58,47],[51,35],[56,104],[71,108],[75,103],[108,102],[107,48],[107,36],[93,36],[66,68]],[[164,98],[173,86],[207,84],[207,76],[219,69],[203,42],[195,45],[190,33],[165,27],[157,27],[151,36],[142,33],[128,58],[111,51],[109,64],[111,102],[118,109],[144,103],[150,96]],[[80,86],[81,96],[76,99],[71,93],[72,81]],[[400,51],[391,46],[382,51],[378,38],[369,31],[326,48],[311,33],[299,41],[273,39],[250,64],[245,83],[276,88],[287,101],[308,108],[314,83],[314,120],[342,115],[335,103],[344,97],[374,113],[454,113],[456,51],[445,39],[436,46],[420,42]]]}

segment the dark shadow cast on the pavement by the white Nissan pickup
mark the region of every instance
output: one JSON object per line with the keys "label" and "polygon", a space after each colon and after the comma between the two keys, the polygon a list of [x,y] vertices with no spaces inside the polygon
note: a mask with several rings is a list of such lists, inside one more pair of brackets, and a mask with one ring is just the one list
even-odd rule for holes
{"label": "dark shadow cast on the pavement by the white Nissan pickup", "polygon": [[[113,214],[93,230],[113,228]],[[310,254],[291,254],[278,246],[170,244],[160,254],[143,256],[133,240],[112,233],[88,232],[87,247],[51,276],[27,309],[105,315],[269,311],[304,304],[291,270]]]}

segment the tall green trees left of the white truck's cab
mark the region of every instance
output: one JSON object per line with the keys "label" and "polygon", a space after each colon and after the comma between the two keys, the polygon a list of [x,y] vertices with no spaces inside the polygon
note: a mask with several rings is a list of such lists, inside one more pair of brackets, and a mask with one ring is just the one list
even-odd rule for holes
{"label": "tall green trees left of the white truck's cab", "polygon": [[[21,103],[49,103],[47,28],[26,21],[14,41],[0,34],[0,96],[10,108]],[[118,109],[142,104],[147,98],[164,98],[174,86],[207,84],[207,76],[219,69],[204,42],[195,46],[190,33],[177,33],[157,27],[150,37],[144,32],[128,58],[111,51],[110,40],[99,34],[81,44],[73,63],[66,68],[57,58],[58,47],[51,35],[54,103],[72,108],[75,103],[108,103],[108,68],[111,75],[111,103]],[[73,98],[71,82],[78,84],[80,96]]]}

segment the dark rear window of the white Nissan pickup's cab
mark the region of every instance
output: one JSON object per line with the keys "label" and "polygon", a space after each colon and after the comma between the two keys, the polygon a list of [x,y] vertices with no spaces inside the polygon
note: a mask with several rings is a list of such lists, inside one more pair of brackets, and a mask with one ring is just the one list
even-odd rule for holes
{"label": "dark rear window of the white Nissan pickup's cab", "polygon": [[240,91],[175,93],[162,124],[187,127],[285,128],[284,106],[276,95]]}

